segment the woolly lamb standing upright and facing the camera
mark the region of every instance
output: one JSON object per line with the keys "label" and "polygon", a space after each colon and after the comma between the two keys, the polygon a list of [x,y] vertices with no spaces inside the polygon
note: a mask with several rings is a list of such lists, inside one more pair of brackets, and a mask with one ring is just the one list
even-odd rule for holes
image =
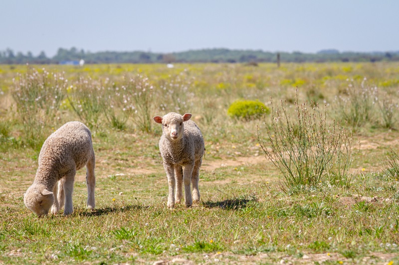
{"label": "woolly lamb standing upright and facing the camera", "polygon": [[[189,207],[194,201],[200,201],[198,181],[202,156],[205,152],[202,134],[197,124],[190,120],[190,113],[183,116],[170,112],[163,117],[155,116],[154,120],[162,124],[163,134],[159,141],[159,149],[164,160],[164,168],[168,177],[169,208],[180,203],[182,198],[182,181],[184,182],[185,203]],[[193,183],[193,197],[191,194]],[[176,189],[175,189],[175,184]],[[175,195],[174,195],[175,192]]]}

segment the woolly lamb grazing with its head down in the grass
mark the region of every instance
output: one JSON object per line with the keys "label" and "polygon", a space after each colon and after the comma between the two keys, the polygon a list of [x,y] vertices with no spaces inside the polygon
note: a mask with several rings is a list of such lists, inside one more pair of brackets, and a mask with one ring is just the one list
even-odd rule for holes
{"label": "woolly lamb grazing with its head down in the grass", "polygon": [[[86,166],[87,208],[94,209],[95,156],[90,130],[81,122],[67,122],[44,141],[33,184],[23,196],[25,206],[38,216],[73,213],[72,191],[76,171]],[[58,181],[58,185],[57,185]],[[58,194],[57,194],[58,191]],[[57,195],[57,196],[54,196]]]}

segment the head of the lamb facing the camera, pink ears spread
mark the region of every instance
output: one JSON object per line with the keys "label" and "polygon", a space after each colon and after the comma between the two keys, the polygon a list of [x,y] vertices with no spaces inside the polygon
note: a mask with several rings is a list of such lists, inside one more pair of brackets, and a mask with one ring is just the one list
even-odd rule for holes
{"label": "head of the lamb facing the camera, pink ears spread", "polygon": [[165,116],[155,116],[154,120],[162,124],[162,131],[167,139],[177,141],[183,137],[184,122],[191,118],[190,113],[180,115],[175,112],[169,112]]}

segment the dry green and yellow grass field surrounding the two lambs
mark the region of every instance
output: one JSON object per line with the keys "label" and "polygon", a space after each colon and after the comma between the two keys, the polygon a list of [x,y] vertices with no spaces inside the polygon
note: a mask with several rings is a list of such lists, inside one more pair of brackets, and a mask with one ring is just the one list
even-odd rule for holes
{"label": "dry green and yellow grass field surrounding the two lambs", "polygon": [[[273,111],[230,117],[238,99]],[[325,131],[299,125],[308,118],[310,128],[311,101]],[[398,103],[398,63],[1,65],[0,264],[399,264]],[[205,140],[201,202],[191,208],[166,206],[152,117],[170,111],[192,113]],[[276,123],[286,119],[292,128]],[[85,209],[80,170],[74,213],[37,218],[23,193],[43,141],[71,120],[93,134],[96,209]],[[264,155],[281,147],[281,132],[294,143],[283,158],[304,184]],[[325,152],[317,144],[327,138],[349,151],[320,175],[321,160],[289,160],[302,147]]]}

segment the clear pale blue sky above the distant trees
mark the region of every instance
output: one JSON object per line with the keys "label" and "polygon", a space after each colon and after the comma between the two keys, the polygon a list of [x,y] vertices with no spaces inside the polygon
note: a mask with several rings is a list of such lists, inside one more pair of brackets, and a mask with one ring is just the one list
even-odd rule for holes
{"label": "clear pale blue sky above the distant trees", "polygon": [[398,51],[399,0],[0,0],[0,50]]}

